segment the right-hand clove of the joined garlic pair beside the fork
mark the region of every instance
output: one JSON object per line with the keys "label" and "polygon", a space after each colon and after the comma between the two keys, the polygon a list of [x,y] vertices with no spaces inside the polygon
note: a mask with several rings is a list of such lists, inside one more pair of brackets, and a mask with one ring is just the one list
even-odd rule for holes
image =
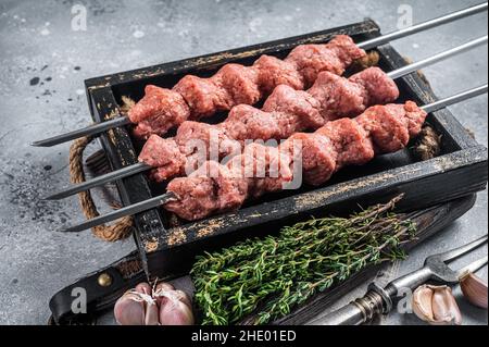
{"label": "right-hand clove of the joined garlic pair beside the fork", "polygon": [[432,294],[431,303],[435,324],[462,324],[462,314],[451,288],[447,286],[436,288]]}

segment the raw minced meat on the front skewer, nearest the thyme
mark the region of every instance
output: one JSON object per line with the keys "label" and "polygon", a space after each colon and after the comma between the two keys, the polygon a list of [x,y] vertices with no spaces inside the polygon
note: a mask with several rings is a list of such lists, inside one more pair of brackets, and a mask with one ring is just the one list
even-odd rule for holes
{"label": "raw minced meat on the front skewer, nearest the thyme", "polygon": [[[222,170],[221,174],[223,176],[223,178],[213,177],[213,182],[217,183],[220,179],[224,179],[227,183],[226,179],[230,179],[228,177],[229,172],[234,174],[233,179],[236,179],[234,184],[228,184],[226,188],[224,188],[224,184],[217,183],[218,189],[215,190],[216,193],[212,197],[218,202],[214,203],[212,208],[208,208],[211,190],[202,198],[202,203],[199,202],[198,198],[195,198],[192,191],[197,188],[195,187],[193,177],[175,178],[168,184],[168,191],[175,193],[179,200],[165,205],[165,208],[184,219],[195,220],[236,209],[240,206],[239,201],[280,189],[278,183],[290,181],[290,173],[293,172],[291,169],[292,161],[284,157],[291,157],[291,144],[298,139],[304,144],[302,147],[304,178],[310,184],[324,184],[329,179],[331,173],[340,168],[363,164],[372,160],[374,158],[374,148],[377,152],[392,152],[404,148],[410,137],[412,138],[418,134],[425,119],[426,112],[411,101],[408,101],[405,104],[377,106],[367,109],[353,120],[333,121],[313,134],[297,134],[292,136],[279,148],[274,148],[275,153],[279,152],[280,156],[269,154],[274,153],[274,151],[269,151],[265,156],[256,156],[255,152],[259,147],[250,145],[253,146],[251,147],[251,154],[246,152],[237,156],[226,165],[212,164],[220,165],[221,169],[215,169],[215,172]],[[287,163],[289,165],[288,169],[290,169],[289,171],[284,171],[284,177],[269,177],[267,179],[264,177],[235,175],[243,172],[250,165],[253,172],[258,165],[269,166],[278,158],[280,162]],[[246,164],[247,160],[248,164]],[[187,185],[192,187],[191,189],[181,188],[187,181]],[[239,182],[239,184],[236,182]],[[247,189],[246,193],[244,188]],[[223,198],[220,195],[223,195]],[[188,196],[191,196],[191,198]],[[206,211],[206,213],[202,211]]]}

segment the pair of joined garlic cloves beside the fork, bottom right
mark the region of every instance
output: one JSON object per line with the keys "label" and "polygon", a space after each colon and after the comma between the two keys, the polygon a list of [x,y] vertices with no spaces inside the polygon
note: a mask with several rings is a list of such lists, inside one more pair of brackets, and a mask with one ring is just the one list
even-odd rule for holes
{"label": "pair of joined garlic cloves beside the fork, bottom right", "polygon": [[462,314],[448,286],[422,285],[413,294],[413,311],[432,325],[462,324]]}

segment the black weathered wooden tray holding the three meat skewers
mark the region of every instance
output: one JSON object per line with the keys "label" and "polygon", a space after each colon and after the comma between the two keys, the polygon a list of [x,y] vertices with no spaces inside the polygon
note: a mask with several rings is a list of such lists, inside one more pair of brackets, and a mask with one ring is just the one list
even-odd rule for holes
{"label": "black weathered wooden tray holding the three meat skewers", "polygon": [[[212,75],[228,62],[251,64],[266,53],[284,58],[302,44],[326,42],[338,34],[348,34],[356,41],[379,35],[373,21],[340,28],[312,33],[256,46],[165,63],[146,69],[86,80],[90,111],[95,121],[121,115],[122,97],[138,100],[147,84],[172,87],[181,76]],[[379,47],[379,65],[391,71],[405,65],[404,59],[390,46]],[[429,86],[417,74],[398,82],[401,99],[428,103],[436,99]],[[401,100],[401,101],[402,101]],[[209,122],[217,122],[217,114]],[[195,255],[220,248],[246,237],[276,232],[310,215],[351,212],[359,203],[368,206],[405,194],[399,208],[413,210],[482,190],[487,183],[487,149],[468,136],[449,110],[430,114],[427,122],[442,136],[441,154],[432,160],[418,161],[410,149],[379,157],[362,168],[346,169],[319,188],[304,186],[269,195],[246,205],[235,213],[227,213],[168,227],[168,215],[153,209],[135,216],[135,238],[149,277],[170,278],[188,272]],[[126,128],[116,128],[100,137],[112,169],[137,162],[142,146]],[[164,191],[150,183],[143,174],[117,182],[124,205],[134,203]]]}

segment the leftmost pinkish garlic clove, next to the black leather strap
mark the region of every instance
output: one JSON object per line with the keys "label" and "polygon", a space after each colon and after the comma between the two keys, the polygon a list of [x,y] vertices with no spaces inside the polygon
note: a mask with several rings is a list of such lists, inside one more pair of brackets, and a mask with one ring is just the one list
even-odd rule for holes
{"label": "leftmost pinkish garlic clove, next to the black leather strap", "polygon": [[145,301],[137,293],[127,292],[115,302],[114,317],[118,325],[145,325]]}

